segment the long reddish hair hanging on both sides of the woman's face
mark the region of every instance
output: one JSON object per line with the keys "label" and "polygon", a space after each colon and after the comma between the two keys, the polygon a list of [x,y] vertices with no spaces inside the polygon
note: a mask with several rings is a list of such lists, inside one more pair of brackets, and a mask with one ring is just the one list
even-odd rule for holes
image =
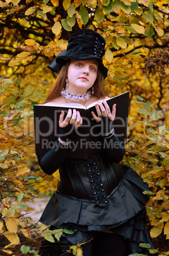
{"label": "long reddish hair hanging on both sides of the woman's face", "polygon": [[[64,66],[62,66],[62,69],[60,69],[57,79],[55,80],[55,83],[53,84],[53,87],[51,88],[51,91],[44,103],[53,101],[53,99],[56,99],[58,96],[60,96],[60,92],[65,87],[69,64],[70,61],[68,61]],[[95,83],[93,84],[93,90],[93,95],[96,96],[98,99],[105,97],[104,76],[102,75],[100,69],[97,70],[97,78],[95,80]]]}

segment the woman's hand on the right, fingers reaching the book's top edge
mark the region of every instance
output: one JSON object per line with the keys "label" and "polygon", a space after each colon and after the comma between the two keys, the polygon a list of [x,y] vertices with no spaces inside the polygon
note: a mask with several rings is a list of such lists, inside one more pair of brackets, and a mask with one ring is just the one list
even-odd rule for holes
{"label": "woman's hand on the right, fingers reaching the book's top edge", "polygon": [[102,120],[102,117],[109,117],[111,121],[113,121],[116,117],[116,104],[112,106],[111,111],[107,102],[103,100],[102,102],[98,101],[97,104],[95,104],[95,108],[97,111],[97,115],[95,115],[93,111],[91,112],[91,115],[97,123],[100,122],[100,120]]}

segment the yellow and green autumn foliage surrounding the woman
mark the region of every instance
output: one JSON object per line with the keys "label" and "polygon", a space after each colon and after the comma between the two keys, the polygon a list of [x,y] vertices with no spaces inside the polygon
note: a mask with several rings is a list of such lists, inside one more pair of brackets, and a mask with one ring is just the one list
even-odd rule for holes
{"label": "yellow and green autumn foliage surrounding the woman", "polygon": [[[0,254],[37,255],[42,237],[53,241],[22,209],[25,201],[50,196],[58,179],[37,164],[32,109],[55,81],[47,68],[53,57],[73,32],[90,28],[106,41],[107,95],[130,90],[123,163],[152,188],[148,229],[158,255],[169,255],[168,1],[0,0],[0,10]],[[54,235],[62,232],[68,231]],[[71,250],[82,255],[81,245]]]}

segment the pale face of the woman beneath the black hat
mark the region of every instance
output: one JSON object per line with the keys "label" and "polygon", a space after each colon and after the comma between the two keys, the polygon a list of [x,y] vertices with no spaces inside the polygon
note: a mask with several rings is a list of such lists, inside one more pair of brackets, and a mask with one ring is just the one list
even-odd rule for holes
{"label": "pale face of the woman beneath the black hat", "polygon": [[67,71],[68,92],[86,93],[95,83],[97,70],[97,60],[71,60]]}

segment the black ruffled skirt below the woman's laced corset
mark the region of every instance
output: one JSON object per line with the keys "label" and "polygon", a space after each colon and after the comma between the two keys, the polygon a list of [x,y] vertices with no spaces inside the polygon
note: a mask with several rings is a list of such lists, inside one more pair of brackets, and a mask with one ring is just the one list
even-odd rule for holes
{"label": "black ruffled skirt below the woman's laced corset", "polygon": [[148,222],[145,211],[148,197],[143,192],[149,190],[149,187],[132,168],[125,166],[125,169],[123,180],[107,198],[106,206],[65,196],[56,191],[39,221],[50,225],[51,229],[74,231],[74,234],[64,233],[60,238],[59,244],[63,246],[85,243],[98,232],[109,230],[127,239],[129,249],[126,255],[142,253],[140,243],[149,243],[153,248],[145,228]]}

